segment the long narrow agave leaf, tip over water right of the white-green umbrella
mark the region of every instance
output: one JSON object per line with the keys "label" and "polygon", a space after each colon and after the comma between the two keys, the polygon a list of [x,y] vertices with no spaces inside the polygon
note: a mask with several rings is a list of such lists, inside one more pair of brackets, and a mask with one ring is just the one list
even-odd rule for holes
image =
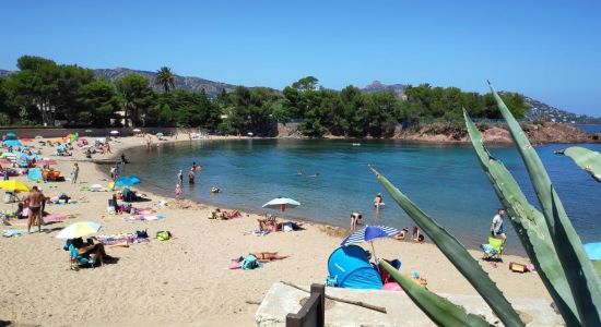
{"label": "long narrow agave leaf, tip over water right of the white-green umbrella", "polygon": [[480,264],[471,254],[447,232],[434,219],[422,211],[411,199],[399,189],[394,187],[388,179],[381,175],[374,168],[369,167],[376,174],[380,184],[388,191],[403,210],[415,221],[415,223],[428,235],[438,249],[447,256],[455,267],[468,279],[474,289],[488,303],[493,312],[499,317],[505,326],[523,326],[511,304],[503,296],[500,290],[488,278]]}

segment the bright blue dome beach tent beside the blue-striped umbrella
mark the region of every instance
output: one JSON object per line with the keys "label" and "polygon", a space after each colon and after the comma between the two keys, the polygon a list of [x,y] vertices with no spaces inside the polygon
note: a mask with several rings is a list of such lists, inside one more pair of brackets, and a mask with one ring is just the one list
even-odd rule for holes
{"label": "bright blue dome beach tent beside the blue-striped umbrella", "polygon": [[334,250],[328,259],[328,272],[340,288],[368,290],[382,288],[378,270],[369,263],[365,250],[357,245]]}

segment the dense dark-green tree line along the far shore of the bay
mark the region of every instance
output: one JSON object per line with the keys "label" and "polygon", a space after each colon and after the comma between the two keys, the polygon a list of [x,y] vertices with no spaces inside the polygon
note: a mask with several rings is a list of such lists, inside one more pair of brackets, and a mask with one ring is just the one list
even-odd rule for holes
{"label": "dense dark-green tree line along the far shore of the bay", "polygon": [[[457,87],[408,86],[404,97],[393,90],[364,93],[355,86],[342,90],[320,87],[316,77],[300,78],[282,92],[256,87],[222,89],[210,98],[204,92],[176,88],[175,74],[156,72],[154,90],[148,77],[129,74],[110,82],[94,71],[33,56],[17,60],[19,71],[0,77],[0,125],[108,128],[204,128],[220,134],[273,136],[275,123],[302,121],[307,136],[387,137],[399,123],[460,121],[462,108],[473,118],[497,119],[492,95]],[[520,94],[504,94],[512,113],[521,118],[528,107]]]}

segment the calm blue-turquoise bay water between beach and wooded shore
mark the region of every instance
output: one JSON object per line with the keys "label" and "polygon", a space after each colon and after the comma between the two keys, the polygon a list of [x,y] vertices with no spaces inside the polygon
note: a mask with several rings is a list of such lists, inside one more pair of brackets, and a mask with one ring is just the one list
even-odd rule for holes
{"label": "calm blue-turquoise bay water between beach and wooded shore", "polygon": [[[564,206],[585,242],[601,239],[601,184],[574,162],[553,152],[565,145],[545,145],[538,152],[546,165]],[[599,145],[587,145],[601,150]],[[525,192],[535,203],[526,168],[512,147],[494,147]],[[499,203],[480,168],[471,146],[424,145],[392,141],[238,140],[162,144],[149,152],[128,150],[133,164],[125,173],[142,178],[142,186],[173,195],[177,171],[184,169],[184,196],[224,207],[263,213],[261,206],[287,196],[302,206],[286,216],[346,227],[352,211],[363,214],[364,223],[411,227],[411,219],[388,196],[367,168],[372,164],[470,247],[487,240],[490,225]],[[203,166],[197,184],[190,186],[186,171],[192,161]],[[298,171],[304,174],[297,174]],[[311,177],[319,173],[317,177]],[[211,194],[217,185],[222,193]],[[386,207],[374,210],[376,193]],[[506,221],[508,250],[521,253],[519,240]]]}

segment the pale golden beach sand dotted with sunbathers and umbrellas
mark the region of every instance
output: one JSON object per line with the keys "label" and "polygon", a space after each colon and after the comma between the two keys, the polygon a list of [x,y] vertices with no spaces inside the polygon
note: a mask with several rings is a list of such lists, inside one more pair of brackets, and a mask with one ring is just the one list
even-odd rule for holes
{"label": "pale golden beach sand dotted with sunbathers and umbrellas", "polygon": [[[119,138],[111,144],[111,150],[119,154],[131,146],[143,146],[143,140]],[[73,165],[71,160],[83,159],[80,150],[75,150],[73,157],[54,157],[51,153],[51,148],[43,148],[43,156],[57,160],[55,167],[67,177]],[[109,156],[95,155],[94,158]],[[0,238],[0,325],[4,320],[44,326],[255,326],[258,306],[247,302],[260,302],[270,286],[280,280],[299,286],[322,283],[328,275],[328,256],[344,237],[340,229],[308,222],[304,223],[303,231],[255,237],[251,231],[257,228],[257,215],[210,220],[208,217],[214,207],[150,193],[146,194],[152,202],[134,206],[156,208],[157,214],[166,218],[123,221],[127,215],[107,214],[110,192],[80,191],[85,185],[107,185],[110,166],[97,168],[86,161],[79,165],[76,184],[69,181],[38,184],[48,196],[62,192],[74,199],[84,197],[86,203],[47,206],[46,210],[52,215],[75,218],[45,226],[50,230],[47,233]],[[174,180],[175,174],[174,171]],[[25,177],[16,179],[26,182]],[[161,199],[169,205],[158,207]],[[15,208],[16,204],[0,204],[0,210]],[[153,239],[130,247],[108,247],[108,254],[118,257],[118,263],[74,271],[69,269],[63,241],[55,235],[60,228],[82,220],[102,223],[102,233],[148,229],[153,237],[156,231],[168,230],[174,238],[164,242]],[[26,226],[25,220],[12,219],[11,223],[12,227],[4,229]],[[420,271],[434,292],[476,294],[433,244],[389,239],[376,241],[375,246],[379,257],[400,258],[401,271]],[[278,251],[290,258],[255,270],[228,269],[232,258],[260,251]],[[471,253],[474,258],[481,258],[480,252]],[[504,263],[497,267],[480,261],[507,296],[551,301],[537,274],[511,272],[509,262],[529,263],[527,258],[511,255],[505,255]]]}

